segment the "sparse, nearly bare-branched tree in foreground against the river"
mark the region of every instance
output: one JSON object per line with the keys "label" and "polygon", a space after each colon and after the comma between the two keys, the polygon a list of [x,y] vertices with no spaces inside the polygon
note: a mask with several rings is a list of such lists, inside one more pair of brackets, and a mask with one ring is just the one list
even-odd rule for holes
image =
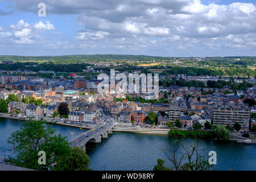
{"label": "sparse, nearly bare-branched tree in foreground against the river", "polygon": [[164,166],[164,160],[158,159],[158,164],[154,166],[155,171],[208,171],[213,168],[208,162],[207,155],[204,154],[206,148],[199,147],[197,141],[187,145],[175,141],[171,147],[159,148],[159,150],[163,151],[172,166],[167,168]]}

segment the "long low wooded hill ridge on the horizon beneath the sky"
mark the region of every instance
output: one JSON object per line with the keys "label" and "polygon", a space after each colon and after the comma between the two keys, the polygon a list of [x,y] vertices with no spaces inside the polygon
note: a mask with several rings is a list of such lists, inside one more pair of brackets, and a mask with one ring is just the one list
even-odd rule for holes
{"label": "long low wooded hill ridge on the horizon beneath the sky", "polygon": [[170,57],[144,55],[0,56],[0,61],[42,60],[163,60]]}

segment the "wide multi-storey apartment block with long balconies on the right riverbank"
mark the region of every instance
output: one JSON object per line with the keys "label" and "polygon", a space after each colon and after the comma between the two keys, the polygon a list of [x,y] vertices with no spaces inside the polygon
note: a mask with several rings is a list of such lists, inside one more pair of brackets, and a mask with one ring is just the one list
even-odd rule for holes
{"label": "wide multi-storey apartment block with long balconies on the right riverbank", "polygon": [[249,129],[250,107],[248,104],[216,103],[213,104],[213,124],[229,125],[240,123],[241,129]]}

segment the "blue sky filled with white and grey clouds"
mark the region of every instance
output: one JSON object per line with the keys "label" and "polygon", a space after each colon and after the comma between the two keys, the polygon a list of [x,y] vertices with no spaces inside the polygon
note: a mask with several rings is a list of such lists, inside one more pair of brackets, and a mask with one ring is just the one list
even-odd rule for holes
{"label": "blue sky filled with white and grey clouds", "polygon": [[0,0],[0,55],[256,56],[256,1],[237,1]]}

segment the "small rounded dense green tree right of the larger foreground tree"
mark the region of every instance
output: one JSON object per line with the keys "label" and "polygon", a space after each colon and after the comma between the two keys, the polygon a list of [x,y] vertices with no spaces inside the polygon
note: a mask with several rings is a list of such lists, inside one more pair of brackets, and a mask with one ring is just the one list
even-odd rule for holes
{"label": "small rounded dense green tree right of the larger foreground tree", "polygon": [[65,171],[89,171],[90,158],[80,147],[73,147],[70,154],[65,156],[60,168]]}

